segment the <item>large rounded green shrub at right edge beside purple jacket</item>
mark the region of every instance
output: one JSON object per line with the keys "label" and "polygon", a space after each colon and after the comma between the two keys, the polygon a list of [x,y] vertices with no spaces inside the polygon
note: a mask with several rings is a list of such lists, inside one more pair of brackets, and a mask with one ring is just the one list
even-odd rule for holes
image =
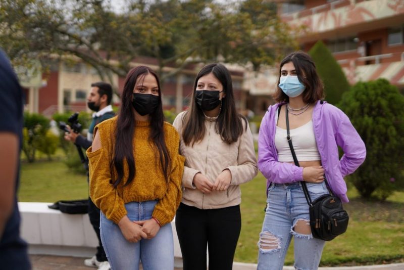
{"label": "large rounded green shrub at right edge beside purple jacket", "polygon": [[364,164],[350,179],[362,197],[385,200],[404,181],[404,96],[385,79],[358,82],[338,106],[367,149]]}

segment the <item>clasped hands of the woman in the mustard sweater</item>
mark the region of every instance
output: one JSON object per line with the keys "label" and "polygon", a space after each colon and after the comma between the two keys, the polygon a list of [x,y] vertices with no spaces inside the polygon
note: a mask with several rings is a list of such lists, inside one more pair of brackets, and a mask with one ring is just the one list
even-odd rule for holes
{"label": "clasped hands of the woman in the mustard sweater", "polygon": [[118,222],[122,235],[131,243],[137,243],[142,238],[151,239],[157,235],[160,226],[153,218],[139,221],[131,221],[128,216],[124,216]]}

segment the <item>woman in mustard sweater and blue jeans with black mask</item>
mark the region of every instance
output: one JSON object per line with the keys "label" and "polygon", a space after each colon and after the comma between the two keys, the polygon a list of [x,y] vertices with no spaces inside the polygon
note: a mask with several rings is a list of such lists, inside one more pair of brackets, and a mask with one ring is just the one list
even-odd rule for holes
{"label": "woman in mustard sweater and blue jeans with black mask", "polygon": [[118,116],[94,128],[87,150],[90,197],[102,211],[100,234],[112,269],[174,268],[170,221],[181,201],[184,158],[164,122],[156,73],[129,71]]}

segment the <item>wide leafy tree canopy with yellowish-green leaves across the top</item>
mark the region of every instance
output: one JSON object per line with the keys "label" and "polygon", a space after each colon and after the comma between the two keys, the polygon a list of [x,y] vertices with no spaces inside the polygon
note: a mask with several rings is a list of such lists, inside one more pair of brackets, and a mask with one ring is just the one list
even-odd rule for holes
{"label": "wide leafy tree canopy with yellowish-green leaves across the top", "polygon": [[136,57],[152,56],[163,81],[200,62],[252,63],[257,70],[296,48],[264,0],[127,3],[117,14],[107,0],[2,0],[0,47],[15,64],[75,56],[110,80],[125,76]]}

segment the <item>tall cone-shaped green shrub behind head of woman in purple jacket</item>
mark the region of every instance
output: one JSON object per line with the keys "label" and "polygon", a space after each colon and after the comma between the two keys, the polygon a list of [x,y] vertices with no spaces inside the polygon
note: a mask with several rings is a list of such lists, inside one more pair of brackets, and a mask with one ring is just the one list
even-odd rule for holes
{"label": "tall cone-shaped green shrub behind head of woman in purple jacket", "polygon": [[341,66],[321,40],[314,44],[309,55],[316,63],[317,72],[323,80],[326,101],[337,104],[341,100],[342,94],[350,88]]}

